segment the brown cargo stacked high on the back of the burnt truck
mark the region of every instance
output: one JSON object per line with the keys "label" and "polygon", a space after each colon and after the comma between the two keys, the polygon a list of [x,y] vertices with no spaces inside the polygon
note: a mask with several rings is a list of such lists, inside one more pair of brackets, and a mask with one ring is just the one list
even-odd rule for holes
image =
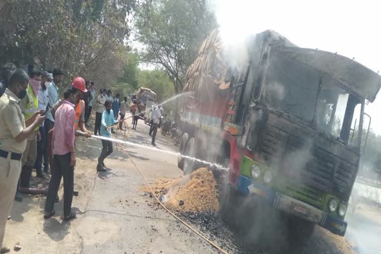
{"label": "brown cargo stacked high on the back of the burnt truck", "polygon": [[184,92],[193,91],[196,97],[212,99],[218,90],[229,88],[230,75],[223,50],[215,29],[202,43],[196,60],[187,70]]}

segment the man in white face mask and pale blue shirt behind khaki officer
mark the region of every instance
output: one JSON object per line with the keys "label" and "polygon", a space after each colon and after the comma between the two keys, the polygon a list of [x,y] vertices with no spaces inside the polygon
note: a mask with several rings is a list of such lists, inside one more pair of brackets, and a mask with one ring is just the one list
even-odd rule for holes
{"label": "man in white face mask and pale blue shirt behind khaki officer", "polygon": [[[53,73],[47,71],[41,72],[41,85],[38,91],[38,110],[46,112],[49,105],[49,92],[48,87],[51,86],[53,80]],[[44,157],[44,172],[49,173],[49,157],[46,149],[47,145],[47,132],[46,126],[43,124],[40,129],[41,139],[37,141],[37,158],[34,167],[36,168],[37,177],[47,179],[42,171],[42,158]]]}

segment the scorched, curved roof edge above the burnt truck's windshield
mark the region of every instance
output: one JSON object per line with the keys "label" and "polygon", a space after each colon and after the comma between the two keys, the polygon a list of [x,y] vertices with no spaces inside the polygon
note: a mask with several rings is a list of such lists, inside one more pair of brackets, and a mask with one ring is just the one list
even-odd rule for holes
{"label": "scorched, curved roof edge above the burnt truck's windshield", "polygon": [[374,102],[380,90],[381,76],[347,57],[321,50],[299,48],[272,30],[266,30],[248,39],[251,41],[250,47],[254,51],[258,51],[258,47],[261,45],[258,42],[269,40],[269,44],[273,46],[273,54],[315,68],[337,81],[343,89],[370,102]]}

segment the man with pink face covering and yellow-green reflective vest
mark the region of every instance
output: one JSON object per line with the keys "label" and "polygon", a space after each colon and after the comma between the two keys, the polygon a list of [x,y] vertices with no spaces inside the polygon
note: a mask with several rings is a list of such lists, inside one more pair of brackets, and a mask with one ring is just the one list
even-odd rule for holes
{"label": "man with pink face covering and yellow-green reflective vest", "polygon": [[[41,71],[33,68],[29,75],[29,84],[26,90],[26,96],[20,102],[21,111],[24,118],[28,119],[38,111],[38,91],[41,86]],[[29,135],[26,148],[21,158],[21,176],[20,187],[29,188],[29,182],[32,175],[32,169],[37,158],[37,140],[40,140],[40,132],[37,126],[32,134]]]}

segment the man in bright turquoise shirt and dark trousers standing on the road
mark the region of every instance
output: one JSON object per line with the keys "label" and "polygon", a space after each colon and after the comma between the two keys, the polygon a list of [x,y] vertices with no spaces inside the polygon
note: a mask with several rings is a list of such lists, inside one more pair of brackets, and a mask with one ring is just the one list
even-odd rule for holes
{"label": "man in bright turquoise shirt and dark trousers standing on the road", "polygon": [[[105,102],[105,108],[106,110],[102,113],[102,121],[101,121],[101,136],[104,137],[111,137],[111,134],[109,132],[109,127],[113,126],[118,123],[118,121],[115,121],[114,119],[114,112],[111,109],[113,105],[112,101],[107,100]],[[102,141],[102,152],[99,155],[98,158],[98,165],[97,165],[97,171],[106,171],[104,160],[107,156],[109,156],[113,152],[113,142],[109,140],[101,140]]]}

